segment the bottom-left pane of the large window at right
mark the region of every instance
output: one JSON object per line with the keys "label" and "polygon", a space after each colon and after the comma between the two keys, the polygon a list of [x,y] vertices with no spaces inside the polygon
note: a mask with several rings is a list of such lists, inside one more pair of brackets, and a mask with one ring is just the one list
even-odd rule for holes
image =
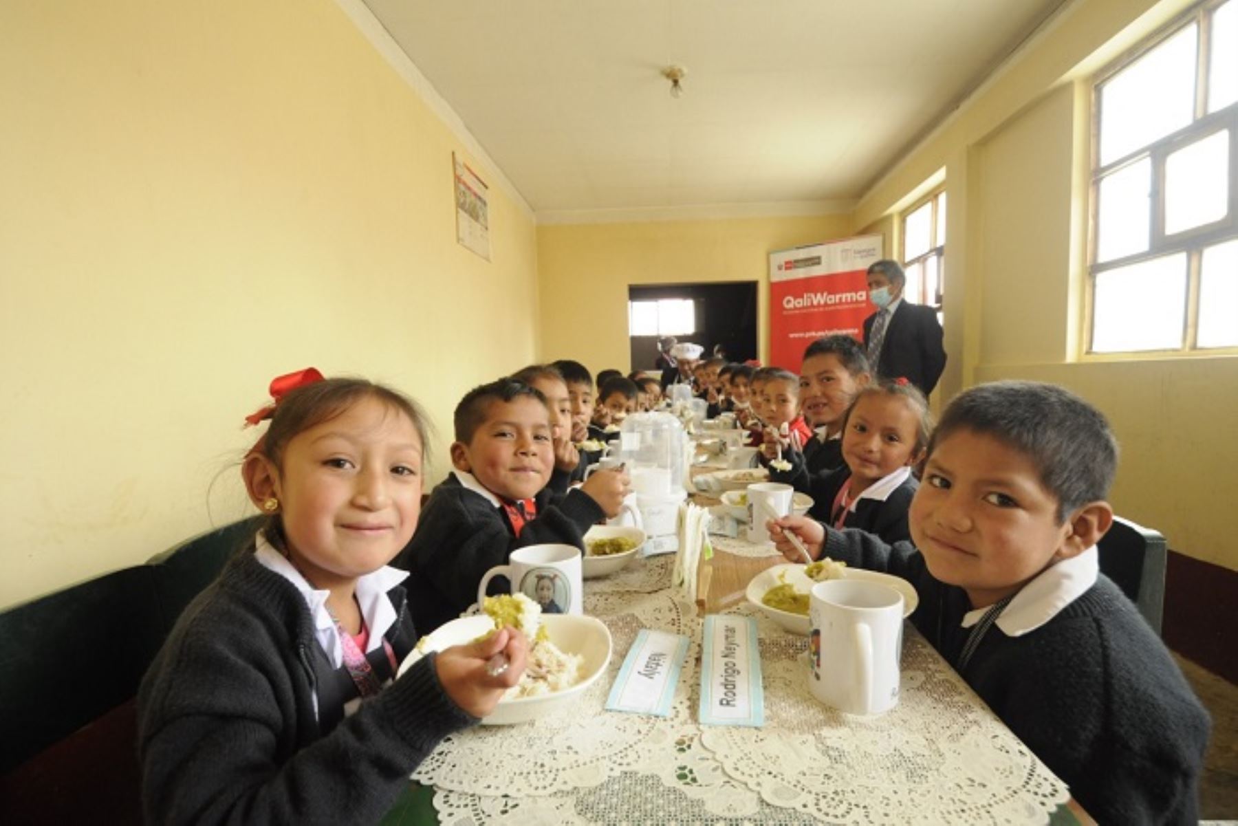
{"label": "bottom-left pane of the large window at right", "polygon": [[1093,352],[1180,349],[1186,312],[1186,254],[1099,272],[1094,297]]}

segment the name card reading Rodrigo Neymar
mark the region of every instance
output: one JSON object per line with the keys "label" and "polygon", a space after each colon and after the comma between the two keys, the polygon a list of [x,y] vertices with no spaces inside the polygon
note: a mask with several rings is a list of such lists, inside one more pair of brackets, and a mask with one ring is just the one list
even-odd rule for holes
{"label": "name card reading Rodrigo Neymar", "polygon": [[756,620],[709,614],[704,618],[702,643],[701,723],[764,726],[765,695]]}

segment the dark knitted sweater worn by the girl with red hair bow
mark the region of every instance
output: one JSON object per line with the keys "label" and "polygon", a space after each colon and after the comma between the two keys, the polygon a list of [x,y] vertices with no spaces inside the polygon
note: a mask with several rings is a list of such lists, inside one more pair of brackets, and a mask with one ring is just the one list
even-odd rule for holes
{"label": "dark knitted sweater worn by the girl with red hair bow", "polygon": [[[397,619],[386,638],[407,651],[404,588],[389,596]],[[137,693],[146,822],[378,822],[438,742],[477,722],[443,692],[431,654],[324,733],[324,658],[296,587],[253,552],[232,560]]]}

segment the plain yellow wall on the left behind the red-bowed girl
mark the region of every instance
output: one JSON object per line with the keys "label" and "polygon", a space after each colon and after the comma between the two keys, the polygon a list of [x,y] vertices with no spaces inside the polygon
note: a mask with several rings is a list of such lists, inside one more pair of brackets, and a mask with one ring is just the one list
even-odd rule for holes
{"label": "plain yellow wall on the left behind the red-bowed girl", "polygon": [[536,354],[531,217],[493,187],[493,264],[456,244],[459,141],[332,0],[5,2],[0,111],[0,606],[245,513],[277,373],[446,438]]}

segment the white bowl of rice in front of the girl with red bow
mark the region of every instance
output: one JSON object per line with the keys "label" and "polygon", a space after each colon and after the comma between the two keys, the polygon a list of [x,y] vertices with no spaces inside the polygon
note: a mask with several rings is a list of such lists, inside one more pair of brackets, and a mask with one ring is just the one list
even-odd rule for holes
{"label": "white bowl of rice in front of the girl with red bow", "polygon": [[[485,614],[461,617],[438,627],[417,641],[400,665],[400,674],[430,651],[467,645],[495,629]],[[581,698],[610,664],[610,630],[593,617],[542,614],[532,634],[529,667],[508,690],[484,726],[510,726],[557,713]]]}

